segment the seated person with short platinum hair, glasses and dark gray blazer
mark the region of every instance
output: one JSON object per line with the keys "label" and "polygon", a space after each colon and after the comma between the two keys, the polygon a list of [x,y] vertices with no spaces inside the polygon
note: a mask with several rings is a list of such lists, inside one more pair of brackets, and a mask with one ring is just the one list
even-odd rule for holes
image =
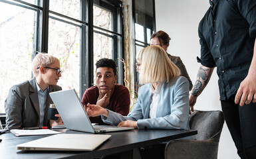
{"label": "seated person with short platinum hair, glasses and dark gray blazer", "polygon": [[5,99],[5,129],[25,127],[51,127],[63,124],[61,117],[56,121],[48,119],[48,108],[53,103],[49,93],[62,88],[57,85],[61,78],[58,58],[39,53],[32,62],[34,78],[13,85]]}

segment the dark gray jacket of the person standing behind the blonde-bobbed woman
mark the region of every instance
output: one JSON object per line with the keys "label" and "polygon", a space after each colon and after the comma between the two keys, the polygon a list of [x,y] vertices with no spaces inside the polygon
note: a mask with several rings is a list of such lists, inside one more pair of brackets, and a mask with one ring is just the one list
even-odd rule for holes
{"label": "dark gray jacket of the person standing behind the blonde-bobbed woman", "polygon": [[188,75],[186,67],[182,62],[182,59],[179,56],[172,56],[170,54],[168,54],[168,57],[170,58],[170,60],[172,60],[172,62],[174,62],[174,64],[176,64],[176,66],[178,68],[180,68],[180,76],[184,76],[185,78],[188,79],[188,82],[190,82],[190,91],[191,91],[191,89],[193,87],[193,84],[192,84],[192,81],[190,79],[190,76]]}

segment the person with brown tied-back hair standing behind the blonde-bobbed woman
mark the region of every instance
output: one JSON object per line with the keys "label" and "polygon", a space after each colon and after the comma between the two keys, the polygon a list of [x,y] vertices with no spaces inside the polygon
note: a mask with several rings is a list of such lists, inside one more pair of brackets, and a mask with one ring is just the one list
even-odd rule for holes
{"label": "person with brown tied-back hair standing behind the blonde-bobbed woman", "polygon": [[[155,32],[154,34],[151,35],[150,45],[161,46],[162,48],[164,48],[164,50],[167,51],[170,40],[171,38],[166,32],[159,30],[158,32]],[[168,52],[166,53],[168,54]],[[186,70],[185,65],[182,62],[182,59],[180,59],[179,56],[172,56],[170,54],[168,54],[168,57],[180,69],[180,76],[184,76],[185,78],[188,79],[188,81],[190,82],[190,91],[191,91],[193,84],[190,79],[190,76],[188,76],[188,72]]]}

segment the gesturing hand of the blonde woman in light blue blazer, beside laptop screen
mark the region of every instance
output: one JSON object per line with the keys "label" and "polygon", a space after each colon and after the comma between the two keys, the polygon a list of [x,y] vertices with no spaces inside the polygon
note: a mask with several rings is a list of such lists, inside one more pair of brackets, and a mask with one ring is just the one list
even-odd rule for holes
{"label": "gesturing hand of the blonde woman in light blue blazer, beside laptop screen", "polygon": [[96,117],[99,115],[104,115],[108,117],[108,111],[103,107],[100,107],[100,105],[90,105],[90,103],[88,103],[86,107],[87,107],[86,113],[88,117]]}

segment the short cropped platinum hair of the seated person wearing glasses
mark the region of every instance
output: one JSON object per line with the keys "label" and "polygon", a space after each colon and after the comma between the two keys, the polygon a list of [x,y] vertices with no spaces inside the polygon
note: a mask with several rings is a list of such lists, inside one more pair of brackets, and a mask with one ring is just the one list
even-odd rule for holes
{"label": "short cropped platinum hair of the seated person wearing glasses", "polygon": [[45,54],[39,52],[37,56],[35,56],[33,62],[32,62],[32,72],[34,76],[37,76],[39,74],[39,67],[47,67],[53,64],[56,60],[59,60],[55,56],[52,56],[50,54]]}

